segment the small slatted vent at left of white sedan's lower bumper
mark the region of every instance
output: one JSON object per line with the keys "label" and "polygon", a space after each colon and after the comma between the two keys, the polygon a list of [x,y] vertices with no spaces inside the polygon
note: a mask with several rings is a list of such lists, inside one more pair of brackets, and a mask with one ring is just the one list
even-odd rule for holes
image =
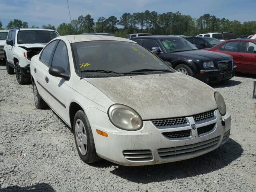
{"label": "small slatted vent at left of white sedan's lower bumper", "polygon": [[153,159],[150,150],[124,150],[123,155],[129,161],[150,161]]}

